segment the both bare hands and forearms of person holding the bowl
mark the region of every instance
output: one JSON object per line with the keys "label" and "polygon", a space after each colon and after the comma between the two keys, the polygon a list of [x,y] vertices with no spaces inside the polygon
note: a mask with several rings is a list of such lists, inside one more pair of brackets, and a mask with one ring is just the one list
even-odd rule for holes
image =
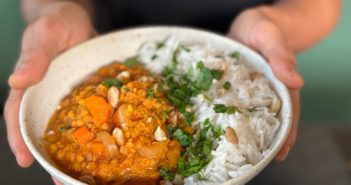
{"label": "both bare hands and forearms of person holding the bowl", "polygon": [[[272,6],[243,11],[228,36],[260,52],[274,74],[291,89],[294,104],[289,137],[276,156],[284,160],[293,147],[300,114],[299,94],[304,81],[296,70],[295,53],[313,46],[335,26],[341,0],[281,0]],[[5,105],[8,141],[17,162],[29,167],[33,157],[19,132],[18,112],[25,89],[39,82],[51,60],[95,35],[89,0],[23,0],[28,27],[22,50],[9,77],[11,91]]]}

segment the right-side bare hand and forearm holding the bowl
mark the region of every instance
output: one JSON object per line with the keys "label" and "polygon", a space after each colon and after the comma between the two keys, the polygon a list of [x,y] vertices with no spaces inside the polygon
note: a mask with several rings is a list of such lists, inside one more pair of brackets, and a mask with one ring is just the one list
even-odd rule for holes
{"label": "right-side bare hand and forearm holding the bowl", "polygon": [[293,123],[276,160],[283,161],[295,144],[300,117],[300,89],[295,53],[313,46],[338,22],[341,0],[282,0],[242,12],[228,36],[252,47],[267,58],[274,74],[290,89]]}

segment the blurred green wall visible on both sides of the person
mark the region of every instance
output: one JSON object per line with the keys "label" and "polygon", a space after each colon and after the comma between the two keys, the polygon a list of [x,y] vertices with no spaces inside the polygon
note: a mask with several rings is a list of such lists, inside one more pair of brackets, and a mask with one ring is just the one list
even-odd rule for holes
{"label": "blurred green wall visible on both sides of the person", "polygon": [[[298,56],[305,78],[302,120],[308,123],[351,125],[351,1],[345,0],[335,31],[316,47]],[[323,21],[323,20],[321,20]],[[19,1],[0,1],[0,103],[7,78],[17,60],[24,23]]]}

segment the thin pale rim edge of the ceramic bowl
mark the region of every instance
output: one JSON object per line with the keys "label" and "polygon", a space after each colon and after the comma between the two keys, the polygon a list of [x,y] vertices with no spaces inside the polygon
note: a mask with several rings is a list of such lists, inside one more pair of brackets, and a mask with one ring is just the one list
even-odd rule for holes
{"label": "thin pale rim edge of the ceramic bowl", "polygon": [[[240,48],[244,49],[246,52],[248,52],[250,55],[253,55],[255,58],[260,59],[261,61],[263,61],[265,64],[269,66],[267,60],[261,56],[260,54],[258,54],[256,51],[254,51],[253,49],[251,49],[250,47],[240,43],[237,40],[231,39],[226,37],[225,35],[221,35],[218,34],[216,32],[212,32],[212,31],[208,31],[208,30],[203,30],[203,29],[198,29],[198,28],[193,28],[193,27],[183,27],[183,26],[141,26],[141,27],[131,27],[131,28],[125,28],[125,29],[119,29],[116,31],[112,31],[109,32],[107,34],[103,34],[103,35],[99,35],[97,37],[91,38],[87,41],[84,41],[70,49],[68,49],[67,51],[61,53],[60,55],[56,56],[52,62],[55,62],[57,59],[61,58],[64,55],[67,55],[69,53],[75,52],[76,48],[80,48],[80,47],[84,47],[84,45],[88,45],[90,43],[93,43],[97,40],[102,40],[102,39],[107,39],[108,37],[113,37],[114,35],[118,35],[118,34],[126,34],[128,32],[133,32],[133,31],[150,31],[150,30],[157,30],[159,32],[164,32],[164,31],[169,31],[169,30],[175,30],[175,31],[181,31],[181,32],[198,32],[201,34],[206,35],[206,37],[213,37],[216,39],[221,39],[221,40],[227,40],[232,42],[233,44],[239,46]],[[271,70],[271,67],[269,67],[269,71],[267,73],[272,73],[273,74],[273,78],[270,79],[270,83],[277,83],[279,86],[281,86],[281,90],[283,90],[284,94],[287,94],[287,103],[288,104],[288,115],[287,115],[287,126],[285,127],[285,134],[282,134],[282,137],[279,138],[280,140],[277,141],[277,143],[275,144],[274,148],[271,148],[271,153],[267,156],[264,156],[258,163],[256,163],[255,165],[253,165],[253,167],[248,171],[245,172],[244,174],[241,174],[239,177],[237,178],[230,178],[227,181],[223,182],[222,184],[233,184],[233,183],[239,183],[239,184],[244,184],[247,183],[248,181],[250,181],[253,177],[255,177],[259,172],[261,172],[272,160],[273,158],[276,156],[276,154],[280,151],[280,149],[282,148],[283,144],[285,143],[285,141],[288,138],[288,135],[290,133],[291,130],[291,126],[292,126],[292,115],[293,115],[293,111],[292,111],[292,100],[291,100],[291,95],[289,93],[288,88],[285,86],[285,84],[283,84],[273,73],[273,71]],[[45,77],[45,76],[44,76]],[[28,88],[23,97],[22,97],[22,101],[20,104],[20,110],[19,110],[19,126],[20,126],[20,132],[21,135],[23,137],[23,140],[26,144],[26,146],[28,147],[29,151],[31,152],[31,154],[34,156],[34,158],[39,162],[39,164],[50,174],[50,175],[57,175],[59,177],[59,180],[64,180],[65,182],[69,182],[69,183],[73,183],[73,184],[85,184],[82,183],[81,181],[79,181],[78,179],[75,179],[73,177],[71,177],[70,175],[66,174],[65,172],[61,171],[59,168],[53,166],[49,161],[47,161],[39,152],[39,150],[37,149],[37,147],[34,145],[32,139],[30,138],[30,135],[28,133],[28,125],[26,124],[27,120],[25,115],[27,114],[27,111],[29,109],[29,107],[27,107],[26,105],[28,104],[29,101],[29,95],[31,93],[31,91],[36,87],[36,85],[31,86],[30,88]],[[283,123],[283,121],[281,121],[281,123]],[[282,125],[280,126],[279,129],[282,129]],[[277,136],[275,136],[274,139],[276,139]],[[274,141],[274,140],[273,140]],[[273,142],[271,143],[271,145],[273,144]],[[271,147],[271,146],[270,146]],[[252,177],[252,178],[250,178]]]}

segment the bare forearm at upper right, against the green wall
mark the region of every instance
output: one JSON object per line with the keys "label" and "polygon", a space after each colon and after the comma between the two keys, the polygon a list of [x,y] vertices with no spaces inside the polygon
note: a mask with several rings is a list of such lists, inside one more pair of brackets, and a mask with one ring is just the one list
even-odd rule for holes
{"label": "bare forearm at upper right, against the green wall", "polygon": [[331,32],[340,9],[341,0],[283,0],[255,8],[282,30],[295,52],[311,47]]}

